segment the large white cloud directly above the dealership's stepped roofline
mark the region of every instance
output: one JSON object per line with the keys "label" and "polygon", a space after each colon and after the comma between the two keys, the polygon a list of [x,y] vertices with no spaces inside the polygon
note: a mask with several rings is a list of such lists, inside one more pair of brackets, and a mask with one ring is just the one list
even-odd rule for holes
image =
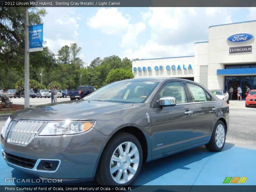
{"label": "large white cloud directly above the dealership's stepped roofline", "polygon": [[127,48],[123,57],[132,59],[194,55],[194,43],[208,40],[208,27],[231,23],[232,8],[153,7],[141,16],[150,39],[137,48]]}

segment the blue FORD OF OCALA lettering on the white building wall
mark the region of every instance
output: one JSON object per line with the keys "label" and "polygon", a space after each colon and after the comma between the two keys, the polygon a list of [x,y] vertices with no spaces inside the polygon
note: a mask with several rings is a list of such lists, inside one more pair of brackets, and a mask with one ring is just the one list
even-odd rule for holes
{"label": "blue FORD OF OCALA lettering on the white building wall", "polygon": [[[186,69],[192,69],[192,66],[191,64],[189,65],[166,65],[165,67],[160,65],[156,65],[155,67],[153,67],[153,69],[155,71],[161,71],[161,70],[164,70],[164,68],[168,71],[168,70],[186,70]],[[152,68],[150,66],[148,67],[133,67],[133,71],[151,71]]]}

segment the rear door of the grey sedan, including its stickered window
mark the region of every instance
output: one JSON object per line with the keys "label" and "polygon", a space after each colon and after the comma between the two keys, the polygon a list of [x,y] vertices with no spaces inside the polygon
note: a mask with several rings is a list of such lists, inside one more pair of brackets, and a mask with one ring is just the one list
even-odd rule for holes
{"label": "rear door of the grey sedan, including its stickered window", "polygon": [[211,132],[216,120],[218,106],[211,95],[201,86],[186,83],[190,99],[194,106],[194,131],[192,144],[200,143],[211,138]]}

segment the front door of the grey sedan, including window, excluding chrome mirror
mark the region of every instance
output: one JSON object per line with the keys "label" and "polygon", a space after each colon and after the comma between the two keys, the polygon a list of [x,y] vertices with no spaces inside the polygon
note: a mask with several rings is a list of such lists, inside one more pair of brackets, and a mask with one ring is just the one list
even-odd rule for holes
{"label": "front door of the grey sedan, including window, excluding chrome mirror", "polygon": [[[160,107],[162,97],[175,97],[176,106]],[[181,81],[165,83],[157,92],[150,108],[152,156],[191,145],[194,126],[193,105]]]}

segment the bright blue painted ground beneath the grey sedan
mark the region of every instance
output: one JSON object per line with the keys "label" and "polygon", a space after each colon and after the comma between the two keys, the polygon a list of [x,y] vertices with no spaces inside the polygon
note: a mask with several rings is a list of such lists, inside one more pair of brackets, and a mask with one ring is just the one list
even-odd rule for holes
{"label": "bright blue painted ground beneath the grey sedan", "polygon": [[[27,185],[5,183],[6,177],[38,179],[8,167],[3,157],[0,157],[0,172],[0,185]],[[226,177],[247,177],[247,180],[244,184],[223,184]],[[202,146],[144,164],[133,185],[256,185],[256,150],[226,143],[221,152],[209,152]]]}

